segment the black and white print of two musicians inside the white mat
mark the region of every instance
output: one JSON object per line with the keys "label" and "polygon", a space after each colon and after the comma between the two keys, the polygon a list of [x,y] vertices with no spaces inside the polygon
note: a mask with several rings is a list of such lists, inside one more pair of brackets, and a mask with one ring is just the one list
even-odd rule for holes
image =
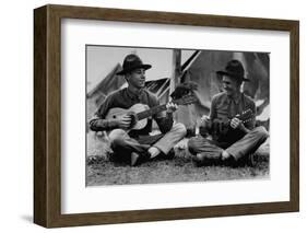
{"label": "black and white print of two musicians inside the white mat", "polygon": [[86,186],[270,178],[270,53],[85,56]]}

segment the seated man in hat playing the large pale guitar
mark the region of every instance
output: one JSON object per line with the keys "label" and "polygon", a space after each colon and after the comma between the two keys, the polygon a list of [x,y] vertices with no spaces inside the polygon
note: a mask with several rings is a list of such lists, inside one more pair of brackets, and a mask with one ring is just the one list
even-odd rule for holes
{"label": "seated man in hat playing the large pale guitar", "polygon": [[186,127],[182,124],[174,124],[173,112],[177,109],[177,105],[173,103],[166,105],[166,116],[163,112],[152,116],[162,132],[155,136],[150,136],[151,117],[147,118],[145,126],[138,130],[131,129],[135,125],[133,114],[119,113],[114,117],[107,117],[115,108],[129,109],[140,104],[141,107],[152,108],[160,104],[158,100],[144,89],[145,70],[151,67],[143,63],[137,55],[128,55],[123,60],[122,71],[117,73],[125,77],[128,88],[108,95],[90,120],[90,128],[93,131],[110,131],[113,161],[126,162],[134,166],[157,155],[167,156],[174,145],[186,135]]}

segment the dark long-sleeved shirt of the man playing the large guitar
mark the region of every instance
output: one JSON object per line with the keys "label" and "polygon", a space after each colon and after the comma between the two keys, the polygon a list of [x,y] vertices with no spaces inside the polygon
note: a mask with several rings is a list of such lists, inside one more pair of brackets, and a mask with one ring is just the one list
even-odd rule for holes
{"label": "dark long-sleeved shirt of the man playing the large guitar", "polygon": [[[135,95],[130,90],[122,89],[108,95],[104,103],[98,107],[94,117],[90,120],[90,128],[93,131],[111,130],[116,128],[113,121],[105,119],[110,108],[120,107],[128,109],[134,104],[144,104],[150,108],[160,105],[155,95],[146,90],[142,90],[139,95]],[[158,125],[160,130],[165,133],[173,127],[173,114],[158,113],[152,117]],[[140,135],[149,135],[152,131],[152,118],[147,118],[147,125],[141,130],[131,130],[129,135],[131,137],[138,137]]]}

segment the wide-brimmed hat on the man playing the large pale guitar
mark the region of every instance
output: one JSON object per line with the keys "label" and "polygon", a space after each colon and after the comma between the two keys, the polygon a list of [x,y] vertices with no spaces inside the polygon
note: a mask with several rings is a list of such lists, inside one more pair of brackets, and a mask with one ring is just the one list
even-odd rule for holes
{"label": "wide-brimmed hat on the man playing the large pale guitar", "polygon": [[127,57],[123,59],[122,62],[122,70],[117,72],[116,74],[123,75],[128,72],[131,72],[132,70],[143,68],[145,70],[151,69],[152,66],[147,63],[143,63],[141,58],[139,58],[137,55],[127,55]]}

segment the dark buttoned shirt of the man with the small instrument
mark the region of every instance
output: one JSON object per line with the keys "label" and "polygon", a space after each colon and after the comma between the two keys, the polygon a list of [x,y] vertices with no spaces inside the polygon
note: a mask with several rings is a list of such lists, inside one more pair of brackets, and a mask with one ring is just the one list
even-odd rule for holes
{"label": "dark buttoned shirt of the man with the small instrument", "polygon": [[[252,117],[249,121],[245,123],[244,126],[251,130],[255,128],[256,124],[256,105],[252,98],[248,97],[244,93],[240,93],[236,98],[233,98],[226,94],[226,92],[219,93],[213,96],[211,103],[210,118],[212,120],[229,120],[234,118],[237,114],[241,114],[244,110],[250,109],[252,112]],[[240,129],[233,129],[229,126],[227,133],[221,133],[217,137],[220,142],[235,142],[243,138],[245,132]]]}

